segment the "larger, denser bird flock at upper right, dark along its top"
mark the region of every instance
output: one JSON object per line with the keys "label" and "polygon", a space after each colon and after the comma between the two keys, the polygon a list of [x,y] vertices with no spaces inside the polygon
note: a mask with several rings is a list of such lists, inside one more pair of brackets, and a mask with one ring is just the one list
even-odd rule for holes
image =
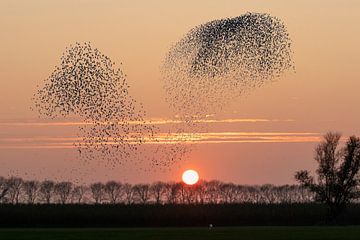
{"label": "larger, denser bird flock at upper right, dark along its top", "polygon": [[292,66],[285,25],[268,14],[247,13],[191,29],[170,49],[162,73],[175,111],[203,117]]}

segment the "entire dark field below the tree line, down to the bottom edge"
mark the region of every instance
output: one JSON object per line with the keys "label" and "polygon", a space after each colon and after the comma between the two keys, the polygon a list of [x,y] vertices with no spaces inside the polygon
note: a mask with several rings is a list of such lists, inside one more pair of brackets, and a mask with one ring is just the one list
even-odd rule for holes
{"label": "entire dark field below the tree line, down to the bottom edge", "polygon": [[0,205],[0,239],[359,239],[360,204],[337,226],[325,215],[319,204]]}

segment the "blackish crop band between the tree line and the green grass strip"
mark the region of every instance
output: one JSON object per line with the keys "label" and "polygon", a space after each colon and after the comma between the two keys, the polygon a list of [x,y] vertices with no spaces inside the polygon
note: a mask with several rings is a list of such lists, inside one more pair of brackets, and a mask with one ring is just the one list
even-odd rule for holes
{"label": "blackish crop band between the tree line and the green grass strip", "polygon": [[[206,227],[210,223],[218,227],[315,226],[326,224],[326,207],[320,204],[2,204],[0,216],[0,228]],[[336,224],[360,225],[360,204],[350,205]]]}

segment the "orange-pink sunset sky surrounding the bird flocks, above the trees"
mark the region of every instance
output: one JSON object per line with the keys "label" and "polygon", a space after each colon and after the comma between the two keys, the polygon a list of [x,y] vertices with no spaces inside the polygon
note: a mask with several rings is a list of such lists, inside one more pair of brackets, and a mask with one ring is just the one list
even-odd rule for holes
{"label": "orange-pink sunset sky surrounding the bird flocks, above the trees", "polygon": [[[294,183],[295,171],[315,169],[314,147],[325,132],[360,135],[359,11],[360,2],[350,0],[0,0],[0,175],[138,183],[179,181],[193,168],[207,180]],[[90,41],[126,73],[147,119],[171,122],[176,113],[160,75],[169,48],[199,24],[247,12],[284,22],[295,72],[209,113],[208,133],[166,171],[141,170],[146,160],[84,166],[71,147],[78,119],[39,119],[30,110],[65,48]]]}

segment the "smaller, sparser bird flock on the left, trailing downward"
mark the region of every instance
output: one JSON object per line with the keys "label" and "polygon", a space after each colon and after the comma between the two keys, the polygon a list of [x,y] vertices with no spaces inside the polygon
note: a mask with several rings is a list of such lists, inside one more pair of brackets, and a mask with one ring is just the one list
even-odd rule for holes
{"label": "smaller, sparser bird flock on the left, trailing downward", "polygon": [[90,43],[66,49],[61,63],[34,96],[41,116],[77,116],[81,141],[75,143],[85,160],[121,163],[154,134],[144,124],[145,111],[129,94],[125,74]]}

